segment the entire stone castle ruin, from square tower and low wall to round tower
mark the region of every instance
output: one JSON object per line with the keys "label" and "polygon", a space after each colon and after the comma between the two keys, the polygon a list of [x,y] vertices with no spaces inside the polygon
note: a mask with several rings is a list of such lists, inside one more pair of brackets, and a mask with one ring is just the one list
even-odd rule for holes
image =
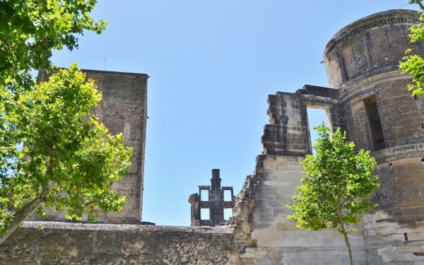
{"label": "entire stone castle ruin, from square tower and low wall to round tower", "polygon": [[147,76],[93,71],[104,95],[96,111],[136,151],[131,173],[114,187],[130,204],[100,224],[45,222],[40,231],[38,222],[25,222],[0,246],[0,264],[348,264],[343,236],[300,230],[286,218],[302,178],[300,162],[312,152],[308,107],[326,110],[330,125],[378,162],[381,187],[371,200],[379,207],[349,235],[354,263],[424,264],[424,100],[411,97],[411,76],[399,70],[407,48],[424,55],[423,44],[409,42],[416,23],[418,14],[406,10],[355,21],[325,47],[329,88],[269,95],[264,151],[235,198],[228,226],[114,224],[141,221]]}

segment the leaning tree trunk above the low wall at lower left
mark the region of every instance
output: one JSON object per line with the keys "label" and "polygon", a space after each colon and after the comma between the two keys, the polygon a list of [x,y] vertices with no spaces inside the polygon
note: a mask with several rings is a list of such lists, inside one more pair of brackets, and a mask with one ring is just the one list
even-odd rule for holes
{"label": "leaning tree trunk above the low wall at lower left", "polygon": [[37,208],[39,208],[42,203],[44,202],[45,198],[49,194],[49,186],[43,187],[42,192],[39,196],[37,196],[33,201],[30,201],[28,204],[23,206],[23,208],[20,208],[19,211],[16,211],[16,213],[12,216],[11,224],[8,226],[6,231],[4,231],[4,235],[0,235],[0,245],[6,240],[6,238],[13,233],[13,231],[18,228],[20,223],[22,223],[26,218],[30,217],[35,213]]}

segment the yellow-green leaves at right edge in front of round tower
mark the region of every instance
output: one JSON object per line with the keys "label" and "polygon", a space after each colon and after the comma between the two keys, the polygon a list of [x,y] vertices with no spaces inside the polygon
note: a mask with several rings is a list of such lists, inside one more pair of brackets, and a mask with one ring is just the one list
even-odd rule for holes
{"label": "yellow-green leaves at right edge in front of round tower", "polygon": [[[409,37],[411,42],[415,43],[418,41],[424,42],[424,5],[420,0],[410,0],[409,4],[418,4],[418,11],[420,12],[420,23],[413,25],[409,30],[411,33]],[[408,56],[404,57],[404,61],[400,63],[400,69],[404,73],[411,73],[413,75],[412,83],[408,85],[413,96],[424,98],[424,59],[418,54],[411,54],[412,50],[406,50]]]}

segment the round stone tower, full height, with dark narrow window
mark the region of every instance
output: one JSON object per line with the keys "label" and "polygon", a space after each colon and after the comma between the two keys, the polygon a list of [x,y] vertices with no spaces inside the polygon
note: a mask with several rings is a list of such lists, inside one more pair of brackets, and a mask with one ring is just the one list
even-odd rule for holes
{"label": "round stone tower, full height, with dark narrow window", "polygon": [[379,207],[364,217],[370,264],[398,260],[399,253],[408,262],[424,255],[419,247],[403,249],[411,240],[424,244],[424,99],[411,97],[411,76],[399,70],[406,49],[424,55],[423,43],[413,45],[408,37],[418,22],[416,11],[376,13],[339,30],[324,51],[348,139],[378,162],[381,187],[373,201]]}

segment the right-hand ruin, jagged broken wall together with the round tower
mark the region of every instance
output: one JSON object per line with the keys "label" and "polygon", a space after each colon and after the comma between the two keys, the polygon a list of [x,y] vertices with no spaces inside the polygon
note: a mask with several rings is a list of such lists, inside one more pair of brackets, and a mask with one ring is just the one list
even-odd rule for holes
{"label": "right-hand ruin, jagged broken wall together with the round tower", "polygon": [[[424,100],[411,97],[411,76],[399,71],[411,45],[415,11],[394,10],[355,21],[330,40],[324,63],[331,88],[305,86],[269,96],[264,152],[236,200],[233,223],[240,264],[348,264],[343,237],[310,232],[287,220],[311,152],[307,107],[326,110],[357,149],[371,151],[379,204],[350,234],[355,264],[424,264]],[[244,249],[243,249],[244,248]]]}

